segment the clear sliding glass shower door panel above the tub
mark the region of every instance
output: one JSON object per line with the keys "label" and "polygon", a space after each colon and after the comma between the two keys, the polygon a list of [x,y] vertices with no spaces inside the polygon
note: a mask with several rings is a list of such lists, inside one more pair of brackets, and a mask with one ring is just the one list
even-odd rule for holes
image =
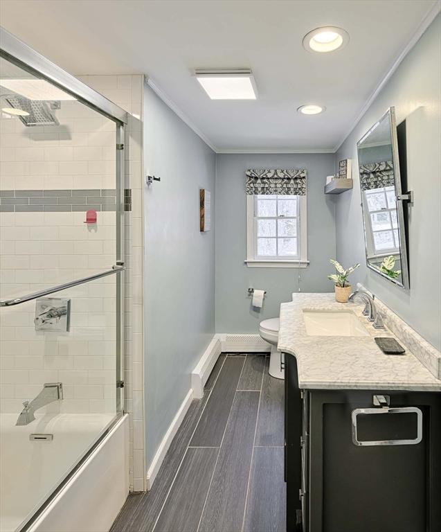
{"label": "clear sliding glass shower door panel above the tub", "polygon": [[0,99],[0,529],[12,532],[123,411],[123,122],[3,53]]}

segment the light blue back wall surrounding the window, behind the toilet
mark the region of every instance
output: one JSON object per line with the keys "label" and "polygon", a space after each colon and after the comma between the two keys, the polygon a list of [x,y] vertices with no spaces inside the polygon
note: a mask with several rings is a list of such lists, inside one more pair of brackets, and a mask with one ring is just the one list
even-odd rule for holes
{"label": "light blue back wall surrounding the window, behind the toilet", "polygon": [[[305,269],[249,268],[246,258],[247,168],[306,168],[308,258]],[[335,256],[334,202],[325,196],[333,154],[218,154],[216,171],[216,332],[258,332],[262,319],[279,315],[291,293],[329,292]],[[301,279],[298,280],[300,274]],[[248,287],[267,290],[260,312],[251,307]]]}

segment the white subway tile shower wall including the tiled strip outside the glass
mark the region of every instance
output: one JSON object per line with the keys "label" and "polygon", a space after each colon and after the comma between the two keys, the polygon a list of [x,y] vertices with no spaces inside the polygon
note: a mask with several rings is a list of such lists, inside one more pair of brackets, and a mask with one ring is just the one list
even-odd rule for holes
{"label": "white subway tile shower wall including the tiled strip outside the glass", "polygon": [[[143,316],[143,76],[80,79],[135,115],[129,115],[125,152],[125,188],[132,188],[134,211],[127,213],[125,227],[124,366],[132,447],[130,484],[132,489],[143,490],[143,330],[133,327],[133,323],[142,323]],[[72,190],[72,196],[76,190],[76,197],[81,197],[80,190],[116,188],[115,125],[75,101],[62,102],[57,117],[60,126],[53,127],[25,127],[17,118],[5,115],[0,119],[0,190],[15,190],[14,197],[5,194],[0,202],[1,299],[100,272],[116,259],[115,212],[98,212],[98,224],[93,227],[84,224],[84,205],[73,204],[72,197],[67,200],[72,211],[56,209],[66,209],[63,190]],[[33,190],[51,190],[54,195],[33,199],[26,195]],[[51,197],[56,204],[51,203]],[[28,211],[31,202],[37,212]],[[105,200],[100,202],[104,204]],[[15,212],[10,212],[10,205]],[[46,205],[54,211],[44,212]],[[93,208],[92,200],[90,205]],[[42,211],[38,211],[39,206],[43,206]],[[1,309],[0,411],[18,413],[21,402],[35,397],[44,382],[61,381],[64,400],[60,407],[48,405],[47,411],[114,412],[116,277],[53,296],[71,298],[68,333],[36,332],[35,301]]]}

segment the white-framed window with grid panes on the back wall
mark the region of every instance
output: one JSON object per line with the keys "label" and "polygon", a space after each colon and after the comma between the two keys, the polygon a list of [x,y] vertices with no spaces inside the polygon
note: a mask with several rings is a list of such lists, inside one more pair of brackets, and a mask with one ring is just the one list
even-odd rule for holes
{"label": "white-framed window with grid panes on the back wall", "polygon": [[247,258],[251,267],[305,267],[306,196],[248,195]]}

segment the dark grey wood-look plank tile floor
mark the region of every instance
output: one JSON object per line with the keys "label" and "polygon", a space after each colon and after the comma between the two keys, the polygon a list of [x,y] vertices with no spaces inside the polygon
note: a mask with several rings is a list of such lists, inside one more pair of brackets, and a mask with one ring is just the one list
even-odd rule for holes
{"label": "dark grey wood-look plank tile floor", "polygon": [[285,532],[283,381],[269,357],[222,353],[148,493],[111,532]]}

